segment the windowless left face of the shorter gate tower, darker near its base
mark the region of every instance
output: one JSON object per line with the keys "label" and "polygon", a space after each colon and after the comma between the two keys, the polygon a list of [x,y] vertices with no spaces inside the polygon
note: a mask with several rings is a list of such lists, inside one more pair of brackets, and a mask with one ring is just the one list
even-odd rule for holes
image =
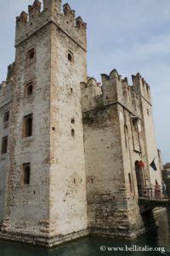
{"label": "windowless left face of the shorter gate tower, darker near its base", "polygon": [[116,105],[83,113],[90,232],[119,234],[126,224],[121,134]]}

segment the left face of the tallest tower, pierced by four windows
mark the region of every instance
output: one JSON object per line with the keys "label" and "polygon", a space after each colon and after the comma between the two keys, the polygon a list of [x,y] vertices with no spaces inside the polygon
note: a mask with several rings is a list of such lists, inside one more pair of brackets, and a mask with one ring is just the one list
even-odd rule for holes
{"label": "left face of the tallest tower, pierced by four windows", "polygon": [[[35,55],[27,60],[34,48]],[[16,49],[16,73],[11,105],[7,207],[3,228],[23,234],[41,232],[48,218],[49,196],[49,83],[50,34],[48,27]],[[33,93],[26,97],[26,84]],[[32,136],[23,137],[23,119],[32,113]],[[30,162],[30,184],[21,185],[22,164]],[[7,222],[7,224],[6,224]]]}

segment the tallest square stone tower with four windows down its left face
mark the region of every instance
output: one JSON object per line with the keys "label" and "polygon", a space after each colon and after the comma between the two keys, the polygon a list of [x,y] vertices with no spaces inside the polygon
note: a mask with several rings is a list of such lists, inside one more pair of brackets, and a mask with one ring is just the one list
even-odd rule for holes
{"label": "tallest square stone tower with four windows down its left face", "polygon": [[1,236],[52,246],[87,234],[86,24],[61,0],[36,0],[16,18],[15,48]]}

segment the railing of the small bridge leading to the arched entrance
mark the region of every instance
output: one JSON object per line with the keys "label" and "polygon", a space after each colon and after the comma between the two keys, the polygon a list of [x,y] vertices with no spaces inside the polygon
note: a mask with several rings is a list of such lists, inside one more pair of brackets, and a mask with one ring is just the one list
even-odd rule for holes
{"label": "railing of the small bridge leading to the arched entrance", "polygon": [[170,200],[170,192],[163,189],[143,188],[140,189],[139,196],[156,200]]}

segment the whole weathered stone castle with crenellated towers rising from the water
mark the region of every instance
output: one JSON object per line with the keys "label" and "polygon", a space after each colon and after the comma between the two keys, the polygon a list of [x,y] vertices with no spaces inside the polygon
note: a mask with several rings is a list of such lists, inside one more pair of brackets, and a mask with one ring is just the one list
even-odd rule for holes
{"label": "whole weathered stone castle with crenellated towers rising from the water", "polygon": [[[61,0],[16,18],[0,85],[0,237],[52,247],[152,229],[142,189],[161,183],[150,86],[87,75],[86,23]],[[155,159],[157,171],[150,167]]]}

